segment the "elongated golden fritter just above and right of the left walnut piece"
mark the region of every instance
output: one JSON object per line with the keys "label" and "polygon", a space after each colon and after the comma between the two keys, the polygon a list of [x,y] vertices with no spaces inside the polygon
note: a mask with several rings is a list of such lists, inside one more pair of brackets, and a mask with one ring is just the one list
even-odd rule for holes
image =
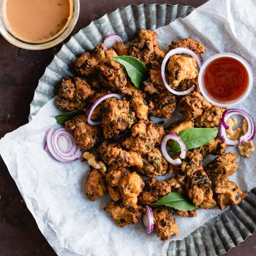
{"label": "elongated golden fritter just above and right of the left walnut piece", "polygon": [[124,150],[121,143],[104,141],[98,148],[101,158],[108,165],[143,167],[141,155],[133,150]]}

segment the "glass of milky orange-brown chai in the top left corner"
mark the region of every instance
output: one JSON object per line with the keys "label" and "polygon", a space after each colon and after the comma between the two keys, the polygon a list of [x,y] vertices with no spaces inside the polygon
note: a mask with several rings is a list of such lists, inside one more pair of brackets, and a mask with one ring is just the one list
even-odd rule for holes
{"label": "glass of milky orange-brown chai in the top left corner", "polygon": [[47,49],[72,32],[79,10],[79,0],[0,0],[0,34],[20,48]]}

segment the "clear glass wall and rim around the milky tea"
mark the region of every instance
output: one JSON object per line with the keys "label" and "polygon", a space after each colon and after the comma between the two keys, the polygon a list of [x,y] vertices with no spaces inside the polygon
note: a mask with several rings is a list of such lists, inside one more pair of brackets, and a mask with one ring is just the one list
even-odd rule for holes
{"label": "clear glass wall and rim around the milky tea", "polygon": [[11,44],[27,49],[27,50],[43,50],[50,47],[54,47],[55,45],[61,43],[65,40],[73,31],[74,26],[78,20],[79,11],[80,11],[80,1],[79,0],[71,0],[71,14],[67,20],[67,24],[65,27],[61,29],[61,31],[55,34],[53,37],[48,40],[42,40],[40,42],[27,42],[24,40],[20,40],[17,36],[15,36],[6,26],[5,13],[4,13],[4,4],[6,0],[0,0],[0,34]]}

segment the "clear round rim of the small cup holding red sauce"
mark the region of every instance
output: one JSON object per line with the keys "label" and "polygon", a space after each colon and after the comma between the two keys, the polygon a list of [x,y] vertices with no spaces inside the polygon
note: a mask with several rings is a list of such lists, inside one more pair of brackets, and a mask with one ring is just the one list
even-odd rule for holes
{"label": "clear round rim of the small cup holding red sauce", "polygon": [[[205,74],[206,68],[212,61],[214,61],[218,58],[221,58],[221,57],[229,57],[229,58],[236,59],[237,61],[240,61],[243,64],[243,66],[246,68],[247,73],[248,73],[249,79],[248,79],[248,85],[247,85],[246,91],[239,98],[237,98],[236,100],[233,100],[233,101],[216,100],[209,94],[209,92],[206,90],[205,85],[204,85],[204,74]],[[199,71],[199,75],[198,75],[198,84],[199,84],[199,88],[201,90],[202,95],[210,103],[212,103],[216,106],[219,106],[219,107],[227,108],[227,107],[235,106],[235,105],[242,103],[249,96],[249,94],[251,93],[252,87],[253,87],[253,74],[252,74],[252,70],[251,70],[249,64],[242,57],[240,57],[236,54],[232,54],[232,53],[215,54],[203,63],[203,65]]]}

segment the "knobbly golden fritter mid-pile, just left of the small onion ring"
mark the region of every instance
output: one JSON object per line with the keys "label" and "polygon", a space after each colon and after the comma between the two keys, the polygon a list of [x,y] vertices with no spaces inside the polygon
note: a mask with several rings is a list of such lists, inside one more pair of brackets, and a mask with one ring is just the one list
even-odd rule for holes
{"label": "knobbly golden fritter mid-pile, just left of the small onion ring", "polygon": [[141,154],[151,152],[164,135],[163,127],[156,127],[153,121],[140,120],[131,130],[132,136],[123,141],[123,146]]}

